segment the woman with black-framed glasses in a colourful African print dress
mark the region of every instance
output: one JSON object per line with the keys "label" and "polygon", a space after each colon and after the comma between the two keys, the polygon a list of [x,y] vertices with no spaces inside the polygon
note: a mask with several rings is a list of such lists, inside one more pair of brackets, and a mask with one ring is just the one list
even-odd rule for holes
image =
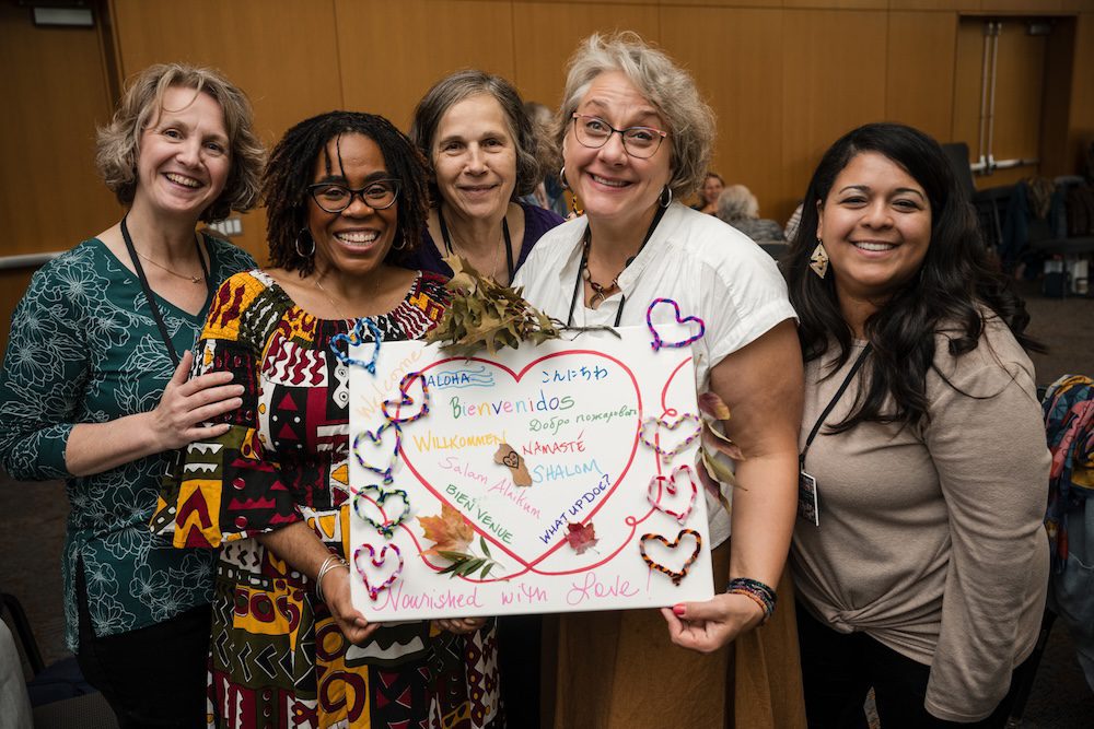
{"label": "woman with black-framed glasses in a colourful African print dress", "polygon": [[418,339],[444,314],[444,278],[398,264],[421,240],[426,179],[383,117],[301,121],[263,181],[272,268],[225,281],[209,314],[195,374],[234,372],[243,402],[165,480],[152,527],[220,548],[217,726],[500,724],[485,621],[370,624],[350,598],[348,379],[361,363],[347,342]]}

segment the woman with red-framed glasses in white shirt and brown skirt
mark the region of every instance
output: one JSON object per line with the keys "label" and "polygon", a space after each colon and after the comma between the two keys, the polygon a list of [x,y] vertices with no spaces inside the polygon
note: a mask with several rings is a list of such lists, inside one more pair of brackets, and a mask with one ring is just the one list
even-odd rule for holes
{"label": "woman with red-framed glasses in white shirt and brown skirt", "polygon": [[514,283],[575,327],[644,326],[657,297],[701,317],[698,389],[728,405],[722,427],[744,458],[732,517],[708,498],[715,597],[661,614],[563,615],[555,726],[802,726],[782,580],[802,403],[785,284],[752,240],[679,203],[703,180],[714,119],[665,54],[630,33],[582,42],[558,121],[561,176],[585,214],[547,233]]}

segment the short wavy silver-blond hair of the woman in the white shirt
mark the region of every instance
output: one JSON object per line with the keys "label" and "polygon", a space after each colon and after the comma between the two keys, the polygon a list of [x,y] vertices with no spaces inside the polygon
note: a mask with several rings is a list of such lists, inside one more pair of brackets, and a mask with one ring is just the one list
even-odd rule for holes
{"label": "short wavy silver-blond hair of the woman in the white shirt", "polygon": [[556,119],[558,149],[561,150],[572,115],[590,84],[610,71],[626,74],[667,122],[673,155],[668,187],[676,198],[693,195],[707,177],[714,145],[714,113],[687,71],[630,31],[607,36],[594,33],[578,45],[570,58],[562,106]]}

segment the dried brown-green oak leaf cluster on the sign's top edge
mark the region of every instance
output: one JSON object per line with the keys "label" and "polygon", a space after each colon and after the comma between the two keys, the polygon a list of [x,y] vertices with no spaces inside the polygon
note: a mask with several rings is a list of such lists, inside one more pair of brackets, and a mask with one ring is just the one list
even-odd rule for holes
{"label": "dried brown-green oak leaf cluster on the sign's top edge", "polygon": [[440,324],[426,336],[429,343],[456,356],[472,356],[482,349],[490,354],[521,342],[540,344],[558,339],[556,324],[537,310],[521,292],[480,275],[458,256],[447,256],[452,278],[445,284],[452,293]]}

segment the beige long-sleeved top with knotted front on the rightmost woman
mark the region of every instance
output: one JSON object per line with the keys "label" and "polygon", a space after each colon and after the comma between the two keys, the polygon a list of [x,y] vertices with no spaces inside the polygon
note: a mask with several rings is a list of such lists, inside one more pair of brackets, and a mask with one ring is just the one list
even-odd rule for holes
{"label": "beige long-sleeved top with knotted front on the rightmost woman", "polygon": [[[932,371],[928,425],[822,428],[805,460],[821,526],[798,520],[791,564],[812,612],[931,666],[927,709],[974,721],[1005,695],[1040,626],[1049,452],[1033,364],[1005,325],[991,319],[956,358],[938,337],[935,366],[967,395]],[[827,379],[831,350],[806,366],[802,446],[864,345]],[[827,422],[848,414],[854,393],[852,383]]]}

